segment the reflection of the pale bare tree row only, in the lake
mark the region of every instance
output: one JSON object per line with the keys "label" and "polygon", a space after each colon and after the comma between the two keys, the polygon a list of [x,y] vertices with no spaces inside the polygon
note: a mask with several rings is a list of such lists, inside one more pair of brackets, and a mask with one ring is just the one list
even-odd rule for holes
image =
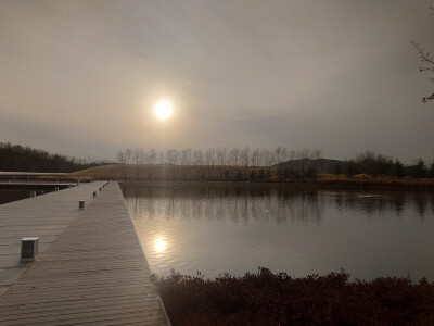
{"label": "reflection of the pale bare tree row only, in the lake", "polygon": [[[130,209],[148,212],[150,217],[164,214],[167,217],[248,223],[252,218],[272,220],[276,223],[319,222],[326,209],[326,198],[318,189],[257,188],[228,186],[124,186],[124,195]],[[164,205],[158,203],[165,201]],[[162,211],[164,210],[164,211]]]}

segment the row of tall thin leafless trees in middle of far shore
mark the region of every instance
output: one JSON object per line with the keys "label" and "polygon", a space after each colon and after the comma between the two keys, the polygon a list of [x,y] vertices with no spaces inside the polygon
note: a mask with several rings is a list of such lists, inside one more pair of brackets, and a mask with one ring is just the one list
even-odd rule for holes
{"label": "row of tall thin leafless trees in middle of far shore", "polygon": [[[289,160],[319,159],[321,151],[288,150],[281,146],[275,150],[226,147],[194,150],[168,149],[156,151],[140,148],[119,150],[117,162],[126,171],[136,166],[136,178],[146,179],[269,179],[272,166]],[[127,168],[128,167],[128,168]]]}

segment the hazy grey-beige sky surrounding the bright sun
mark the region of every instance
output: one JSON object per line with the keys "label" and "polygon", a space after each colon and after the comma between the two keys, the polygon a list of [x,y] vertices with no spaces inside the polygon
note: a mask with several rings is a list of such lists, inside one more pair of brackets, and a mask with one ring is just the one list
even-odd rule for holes
{"label": "hazy grey-beige sky surrounding the bright sun", "polygon": [[[0,140],[434,156],[433,1],[0,1]],[[153,105],[171,101],[173,117]]]}

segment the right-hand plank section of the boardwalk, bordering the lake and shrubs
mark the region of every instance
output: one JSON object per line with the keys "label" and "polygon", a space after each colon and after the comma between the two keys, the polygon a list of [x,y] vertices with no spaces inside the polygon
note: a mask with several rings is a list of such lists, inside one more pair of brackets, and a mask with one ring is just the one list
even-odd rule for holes
{"label": "right-hand plank section of the boardwalk, bordering the lake and shrubs", "polygon": [[71,224],[0,296],[0,324],[168,325],[118,184],[69,213]]}

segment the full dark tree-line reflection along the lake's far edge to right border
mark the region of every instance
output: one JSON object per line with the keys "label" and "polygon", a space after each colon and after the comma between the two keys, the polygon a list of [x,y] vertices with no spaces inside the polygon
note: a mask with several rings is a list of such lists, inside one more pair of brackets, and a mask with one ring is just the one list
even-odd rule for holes
{"label": "full dark tree-line reflection along the lake's far edge to right border", "polygon": [[[127,186],[128,185],[128,186]],[[434,196],[426,192],[380,190],[327,190],[315,187],[258,187],[233,184],[140,184],[123,186],[127,203],[135,212],[149,212],[182,218],[248,223],[252,218],[286,222],[320,222],[328,204],[337,210],[363,212],[367,217],[394,213],[399,216],[405,209],[414,206],[420,218],[433,216]],[[133,200],[133,203],[131,202]],[[157,205],[166,201],[164,206]],[[162,211],[164,210],[164,211]]]}

